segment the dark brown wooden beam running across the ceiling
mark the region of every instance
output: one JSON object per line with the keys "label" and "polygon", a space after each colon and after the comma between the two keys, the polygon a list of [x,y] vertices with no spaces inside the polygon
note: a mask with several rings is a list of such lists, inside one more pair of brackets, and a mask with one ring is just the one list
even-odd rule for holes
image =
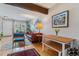
{"label": "dark brown wooden beam running across the ceiling", "polygon": [[43,14],[48,14],[47,8],[38,6],[38,5],[33,4],[33,3],[6,3],[6,4],[21,7],[21,8],[24,8],[24,9],[31,10],[31,11],[40,12],[40,13],[43,13]]}

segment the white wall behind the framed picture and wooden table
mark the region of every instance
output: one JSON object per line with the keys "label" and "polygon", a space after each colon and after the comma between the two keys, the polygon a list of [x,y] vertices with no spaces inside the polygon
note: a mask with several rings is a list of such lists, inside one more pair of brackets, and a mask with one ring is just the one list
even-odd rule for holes
{"label": "white wall behind the framed picture and wooden table", "polygon": [[55,34],[54,28],[52,28],[52,16],[62,11],[69,10],[69,27],[60,28],[59,36],[74,38],[79,40],[79,4],[75,3],[63,3],[56,4],[49,9],[49,15],[46,18],[47,29],[44,29],[46,34]]}

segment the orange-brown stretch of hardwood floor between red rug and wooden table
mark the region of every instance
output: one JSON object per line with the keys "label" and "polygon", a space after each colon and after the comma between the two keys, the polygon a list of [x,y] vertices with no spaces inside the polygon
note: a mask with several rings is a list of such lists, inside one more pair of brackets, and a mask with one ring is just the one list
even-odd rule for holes
{"label": "orange-brown stretch of hardwood floor between red rug and wooden table", "polygon": [[51,49],[46,48],[42,51],[42,44],[41,43],[33,43],[34,48],[38,51],[41,56],[57,56],[57,52]]}

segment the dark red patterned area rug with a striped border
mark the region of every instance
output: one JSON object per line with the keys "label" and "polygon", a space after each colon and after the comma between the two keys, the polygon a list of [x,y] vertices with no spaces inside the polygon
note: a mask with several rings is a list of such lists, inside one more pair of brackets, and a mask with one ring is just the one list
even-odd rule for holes
{"label": "dark red patterned area rug with a striped border", "polygon": [[12,54],[8,54],[8,56],[40,56],[39,53],[33,48],[20,52],[15,52]]}

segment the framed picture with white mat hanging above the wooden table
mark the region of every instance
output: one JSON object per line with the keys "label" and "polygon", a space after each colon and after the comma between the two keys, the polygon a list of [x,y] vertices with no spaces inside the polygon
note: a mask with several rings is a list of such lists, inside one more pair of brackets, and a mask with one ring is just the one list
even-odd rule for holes
{"label": "framed picture with white mat hanging above the wooden table", "polygon": [[52,27],[53,28],[63,28],[69,26],[69,11],[63,11],[52,16]]}

